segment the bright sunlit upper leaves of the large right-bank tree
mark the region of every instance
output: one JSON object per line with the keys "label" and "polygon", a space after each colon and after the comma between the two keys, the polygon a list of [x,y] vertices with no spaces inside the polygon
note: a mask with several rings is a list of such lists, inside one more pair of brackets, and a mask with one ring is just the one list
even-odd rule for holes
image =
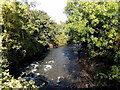
{"label": "bright sunlit upper leaves of the large right-bank tree", "polygon": [[[115,5],[116,7],[113,8]],[[71,9],[68,9],[68,7],[71,7]],[[90,43],[89,38],[91,38],[91,43],[99,48],[107,46],[107,40],[116,40],[118,35],[118,32],[116,32],[117,27],[114,26],[117,23],[117,17],[115,16],[117,14],[117,8],[118,5],[116,3],[107,2],[68,3],[66,13],[72,12],[69,13],[67,21],[69,22],[68,25],[71,23],[71,26],[68,27],[70,29],[69,33],[72,33],[72,36],[81,37],[81,41],[83,42]],[[76,19],[78,17],[81,20]],[[72,31],[76,31],[78,34]],[[109,43],[113,43],[113,41],[109,41]]]}

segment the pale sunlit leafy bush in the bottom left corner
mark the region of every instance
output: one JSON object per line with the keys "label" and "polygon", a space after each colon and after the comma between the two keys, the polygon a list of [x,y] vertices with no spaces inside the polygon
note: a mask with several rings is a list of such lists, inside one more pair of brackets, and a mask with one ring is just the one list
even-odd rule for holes
{"label": "pale sunlit leafy bush in the bottom left corner", "polygon": [[10,89],[10,88],[21,88],[21,89],[32,89],[32,88],[38,88],[35,86],[34,81],[26,81],[25,79],[22,79],[19,77],[18,79],[15,79],[12,75],[9,74],[9,69],[5,69],[8,66],[8,61],[6,59],[3,59],[0,61],[0,89]]}

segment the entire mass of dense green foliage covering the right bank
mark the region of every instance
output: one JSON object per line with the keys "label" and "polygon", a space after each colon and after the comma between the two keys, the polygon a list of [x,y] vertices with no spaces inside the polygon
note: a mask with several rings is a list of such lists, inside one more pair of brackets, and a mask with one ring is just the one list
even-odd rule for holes
{"label": "entire mass of dense green foliage covering the right bank", "polygon": [[105,68],[98,72],[101,82],[120,83],[118,3],[69,2],[65,11],[70,37],[82,45],[81,49],[87,49],[90,59],[103,58]]}

